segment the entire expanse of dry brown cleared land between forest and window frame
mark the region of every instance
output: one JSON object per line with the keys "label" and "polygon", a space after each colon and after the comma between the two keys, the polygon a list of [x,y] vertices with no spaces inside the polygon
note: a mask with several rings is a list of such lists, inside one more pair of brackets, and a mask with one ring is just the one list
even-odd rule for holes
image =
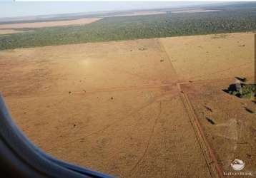
{"label": "entire expanse of dry brown cleared land between forest and window frame", "polygon": [[[252,46],[252,33],[230,33],[1,51],[1,93],[59,159],[117,177],[218,177],[233,157],[255,167],[243,108],[255,104],[222,91],[253,77]],[[235,141],[233,122],[246,130]]]}

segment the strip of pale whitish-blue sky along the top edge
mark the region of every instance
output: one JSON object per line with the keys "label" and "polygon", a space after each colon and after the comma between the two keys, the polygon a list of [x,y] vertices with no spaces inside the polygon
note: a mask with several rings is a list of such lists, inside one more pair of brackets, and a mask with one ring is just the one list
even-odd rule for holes
{"label": "strip of pale whitish-blue sky along the top edge", "polygon": [[94,11],[124,11],[211,4],[205,1],[27,1],[0,0],[0,18],[69,14]]}

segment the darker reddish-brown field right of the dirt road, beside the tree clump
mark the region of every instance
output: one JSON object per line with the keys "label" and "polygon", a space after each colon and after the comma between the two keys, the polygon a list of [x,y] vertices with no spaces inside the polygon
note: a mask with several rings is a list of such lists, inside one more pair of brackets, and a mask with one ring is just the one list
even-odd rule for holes
{"label": "darker reddish-brown field right of the dirt road, beside the tree clump", "polygon": [[239,157],[246,164],[243,171],[250,172],[256,165],[256,121],[255,113],[250,110],[256,112],[256,107],[252,100],[222,91],[233,82],[233,79],[202,81],[182,88],[222,169],[232,172],[230,162]]}

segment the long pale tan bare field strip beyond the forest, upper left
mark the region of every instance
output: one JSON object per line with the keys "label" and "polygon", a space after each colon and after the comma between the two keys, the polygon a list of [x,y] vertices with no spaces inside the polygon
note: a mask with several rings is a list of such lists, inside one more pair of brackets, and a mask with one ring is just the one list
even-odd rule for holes
{"label": "long pale tan bare field strip beyond the forest, upper left", "polygon": [[0,24],[0,29],[11,29],[11,28],[41,28],[41,27],[52,27],[52,26],[74,26],[84,25],[99,21],[102,18],[84,18],[69,21],[44,21],[44,22],[33,22],[33,23],[11,23],[11,24]]}

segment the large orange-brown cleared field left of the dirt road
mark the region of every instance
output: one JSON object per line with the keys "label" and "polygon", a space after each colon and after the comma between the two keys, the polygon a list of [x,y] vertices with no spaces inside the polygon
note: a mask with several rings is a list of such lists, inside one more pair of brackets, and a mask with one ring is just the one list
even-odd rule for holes
{"label": "large orange-brown cleared field left of the dirt road", "polygon": [[189,165],[188,176],[210,175],[157,39],[18,49],[0,58],[12,115],[51,155],[115,176],[178,176]]}

